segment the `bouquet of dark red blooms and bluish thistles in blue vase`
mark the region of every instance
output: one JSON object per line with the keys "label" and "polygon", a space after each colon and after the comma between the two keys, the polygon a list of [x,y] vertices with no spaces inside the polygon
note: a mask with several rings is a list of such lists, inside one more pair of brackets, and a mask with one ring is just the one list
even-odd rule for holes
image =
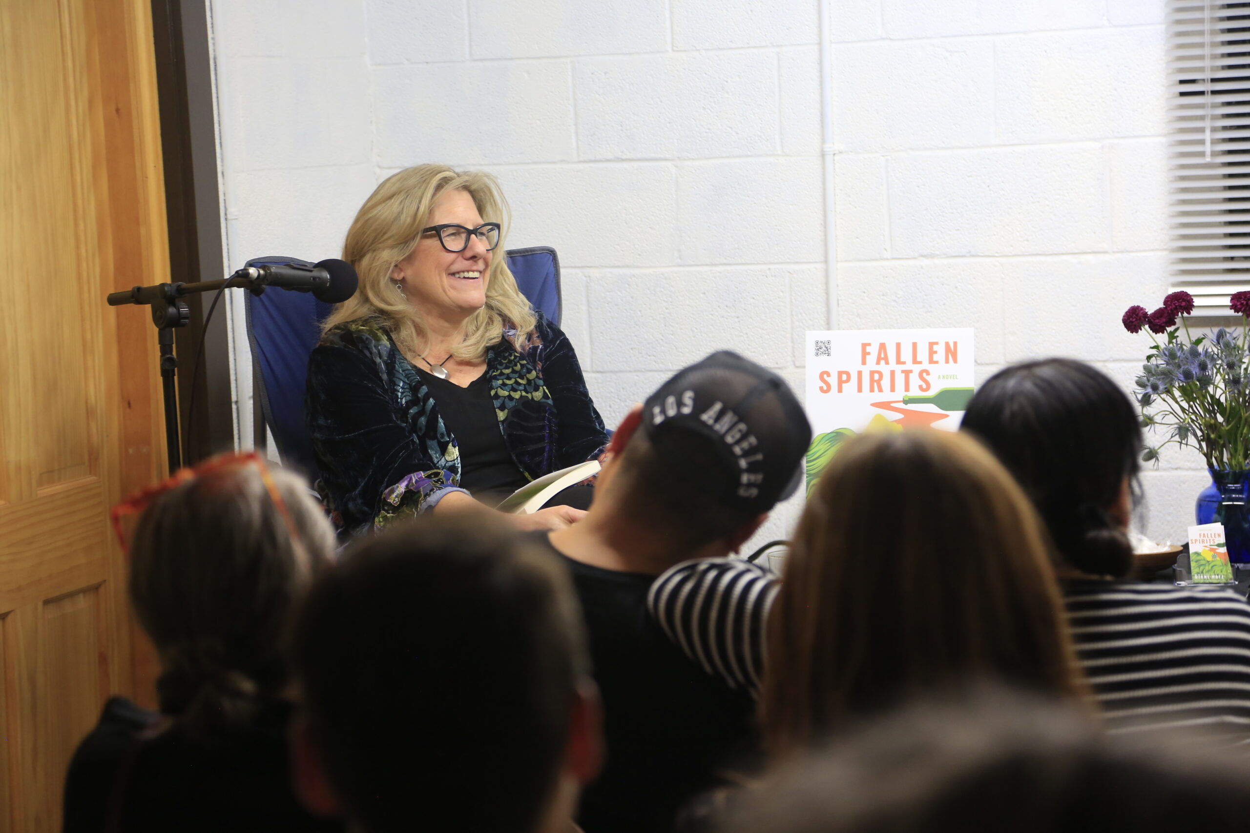
{"label": "bouquet of dark red blooms and bluish thistles in blue vase", "polygon": [[[1242,335],[1220,327],[1194,337],[1185,316],[1194,311],[1189,292],[1172,292],[1154,312],[1131,306],[1121,318],[1129,332],[1149,330],[1154,345],[1136,378],[1134,396],[1141,406],[1141,426],[1164,440],[1148,446],[1141,458],[1159,460],[1169,445],[1201,452],[1212,483],[1199,496],[1198,522],[1224,523],[1229,556],[1250,562],[1250,512],[1246,510],[1250,465],[1250,353],[1245,322],[1250,292],[1230,300],[1242,317]],[[1179,323],[1178,323],[1179,322]],[[1162,336],[1162,338],[1160,338]]]}

